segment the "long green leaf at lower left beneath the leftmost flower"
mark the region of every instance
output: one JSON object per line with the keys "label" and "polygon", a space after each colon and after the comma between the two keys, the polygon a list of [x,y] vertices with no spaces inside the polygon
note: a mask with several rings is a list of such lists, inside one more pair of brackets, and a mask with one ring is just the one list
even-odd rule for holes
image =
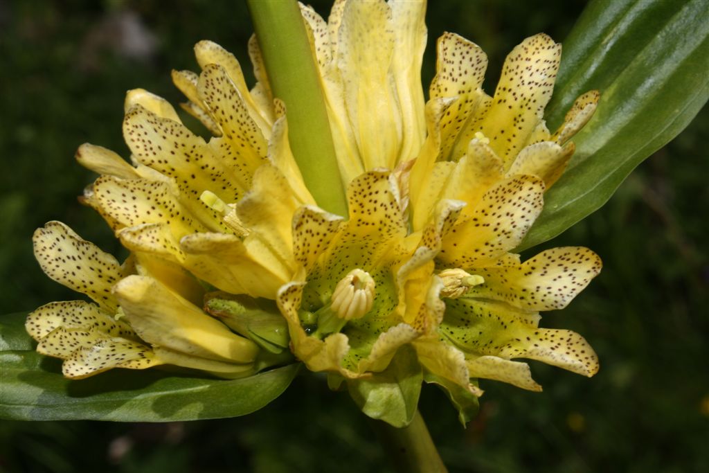
{"label": "long green leaf at lower left beneath the leftmost flower", "polygon": [[0,316],[0,418],[164,422],[243,416],[276,399],[300,366],[235,380],[157,369],[113,369],[70,380],[62,376],[61,360],[34,351],[25,318],[25,313]]}

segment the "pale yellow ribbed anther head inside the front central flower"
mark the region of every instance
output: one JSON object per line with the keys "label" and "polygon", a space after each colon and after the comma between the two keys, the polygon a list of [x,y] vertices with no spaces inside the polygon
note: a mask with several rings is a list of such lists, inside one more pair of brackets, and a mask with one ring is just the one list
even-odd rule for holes
{"label": "pale yellow ribbed anther head inside the front central flower", "polygon": [[350,321],[369,312],[374,304],[374,279],[362,269],[352,269],[335,286],[330,308],[337,316]]}

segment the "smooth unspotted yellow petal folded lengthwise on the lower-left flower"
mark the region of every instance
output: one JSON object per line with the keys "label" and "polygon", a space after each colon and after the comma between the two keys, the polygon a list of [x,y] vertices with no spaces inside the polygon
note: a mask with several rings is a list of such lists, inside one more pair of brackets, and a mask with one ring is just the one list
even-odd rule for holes
{"label": "smooth unspotted yellow petal folded lengthwise on the lower-left flower", "polygon": [[129,276],[113,289],[125,319],[143,340],[210,360],[249,363],[258,347],[155,279]]}

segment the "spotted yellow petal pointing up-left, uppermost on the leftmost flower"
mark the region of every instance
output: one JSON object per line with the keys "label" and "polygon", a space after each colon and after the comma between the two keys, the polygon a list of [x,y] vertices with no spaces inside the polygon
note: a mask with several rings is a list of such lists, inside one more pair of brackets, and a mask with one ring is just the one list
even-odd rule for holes
{"label": "spotted yellow petal pointing up-left, uppermost on the leftmost flower", "polygon": [[35,258],[45,274],[69,289],[86,294],[105,311],[116,311],[111,287],[123,277],[123,271],[113,255],[57,221],[35,230],[32,241]]}

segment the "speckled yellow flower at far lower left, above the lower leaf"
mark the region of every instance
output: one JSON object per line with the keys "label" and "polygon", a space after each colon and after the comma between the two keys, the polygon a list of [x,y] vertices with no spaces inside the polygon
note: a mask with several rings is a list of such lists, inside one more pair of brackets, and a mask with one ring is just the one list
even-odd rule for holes
{"label": "speckled yellow flower at far lower left, above the lower leaf", "polygon": [[118,265],[63,223],[38,229],[34,245],[48,276],[96,302],[52,302],[27,318],[38,352],[63,358],[65,376],[169,364],[240,377],[262,367],[255,343],[144,275],[145,268]]}

